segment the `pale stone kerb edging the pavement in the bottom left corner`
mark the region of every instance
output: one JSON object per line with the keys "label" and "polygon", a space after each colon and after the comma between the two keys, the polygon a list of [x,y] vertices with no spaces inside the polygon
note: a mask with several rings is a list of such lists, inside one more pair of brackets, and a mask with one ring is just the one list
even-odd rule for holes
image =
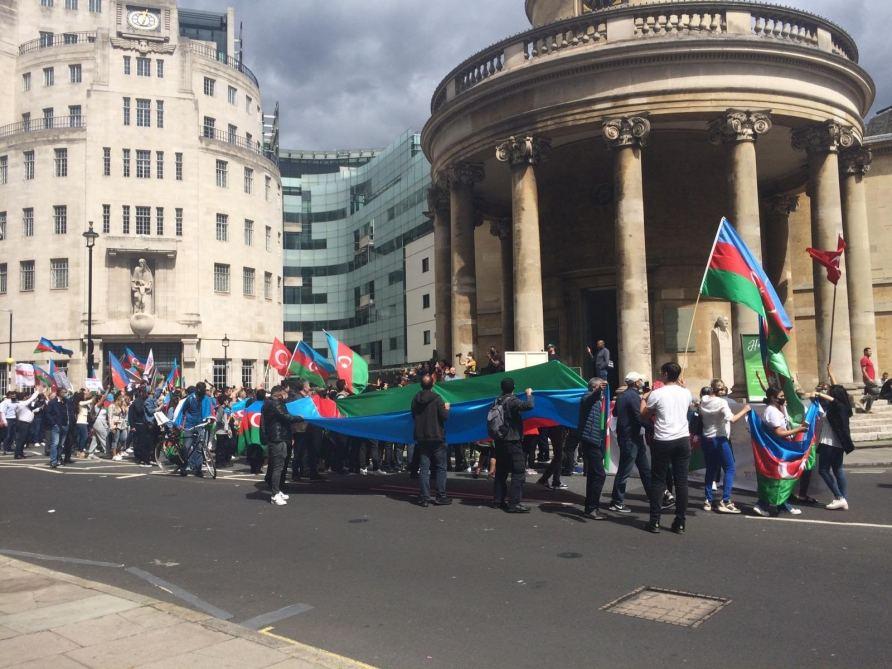
{"label": "pale stone kerb edging the pavement in the bottom left corner", "polygon": [[31,574],[44,576],[56,581],[69,583],[71,585],[76,585],[86,590],[92,590],[94,592],[99,592],[105,595],[119,597],[121,599],[133,602],[134,604],[150,607],[162,613],[167,613],[168,615],[175,616],[183,620],[183,622],[197,624],[214,632],[222,632],[224,634],[228,634],[229,636],[238,639],[245,639],[246,641],[250,641],[266,648],[276,650],[284,655],[287,655],[289,658],[294,658],[301,662],[305,662],[310,666],[319,667],[320,669],[376,669],[376,667],[374,667],[373,665],[365,664],[358,660],[352,660],[350,658],[331,653],[321,648],[316,648],[314,646],[309,646],[298,641],[294,641],[293,639],[286,639],[284,637],[279,637],[276,635],[255,632],[254,630],[248,629],[247,627],[242,627],[241,625],[238,625],[236,623],[231,623],[226,620],[214,618],[207,613],[201,613],[199,611],[187,609],[183,606],[171,604],[169,602],[162,602],[161,600],[147,597],[145,595],[139,595],[128,590],[123,590],[121,588],[115,587],[113,585],[106,585],[97,581],[89,581],[78,576],[66,574],[65,572],[54,571],[52,569],[47,569],[46,567],[40,567],[38,565],[31,564],[30,562],[23,562],[6,555],[0,554],[0,566],[12,567],[14,569],[19,569]]}

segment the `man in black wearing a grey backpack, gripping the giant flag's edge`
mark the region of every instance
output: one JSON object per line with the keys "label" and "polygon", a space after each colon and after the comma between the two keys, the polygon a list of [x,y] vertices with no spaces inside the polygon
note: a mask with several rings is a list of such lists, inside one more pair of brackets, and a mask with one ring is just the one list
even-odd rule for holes
{"label": "man in black wearing a grey backpack, gripping the giant flag's edge", "polygon": [[[521,504],[523,484],[526,480],[526,454],[523,451],[524,411],[533,408],[533,390],[527,388],[526,400],[514,395],[514,379],[502,379],[502,394],[493,402],[486,415],[489,436],[495,442],[496,478],[493,496],[499,508],[508,513],[529,513],[530,509]],[[508,474],[511,474],[511,488],[508,488]]]}

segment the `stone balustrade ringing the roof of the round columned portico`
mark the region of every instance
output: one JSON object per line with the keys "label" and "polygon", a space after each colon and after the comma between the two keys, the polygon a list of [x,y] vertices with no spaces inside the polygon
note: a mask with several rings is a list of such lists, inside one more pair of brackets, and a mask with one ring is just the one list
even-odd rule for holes
{"label": "stone balustrade ringing the roof of the round columned portico", "polygon": [[615,5],[519,33],[471,56],[437,87],[431,112],[503,71],[559,51],[655,38],[771,40],[858,62],[858,47],[846,31],[798,9],[750,0]]}

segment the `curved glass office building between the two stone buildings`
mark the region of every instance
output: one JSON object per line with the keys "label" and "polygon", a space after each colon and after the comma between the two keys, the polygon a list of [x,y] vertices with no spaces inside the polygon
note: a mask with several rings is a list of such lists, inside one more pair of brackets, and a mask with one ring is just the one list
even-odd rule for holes
{"label": "curved glass office building between the two stone buildings", "polygon": [[420,135],[383,150],[279,157],[287,343],[325,350],[328,331],[373,369],[419,362],[407,360],[405,246],[433,232]]}

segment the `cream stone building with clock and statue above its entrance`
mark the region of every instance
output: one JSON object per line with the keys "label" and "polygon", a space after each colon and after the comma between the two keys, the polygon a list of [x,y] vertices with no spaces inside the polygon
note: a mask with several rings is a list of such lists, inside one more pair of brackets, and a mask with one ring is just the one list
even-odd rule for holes
{"label": "cream stone building with clock and statue above its entrance", "polygon": [[232,10],[173,0],[0,0],[0,310],[16,360],[45,361],[46,336],[83,381],[92,223],[97,366],[126,346],[178,359],[188,382],[262,378],[282,335],[277,118],[235,27]]}

